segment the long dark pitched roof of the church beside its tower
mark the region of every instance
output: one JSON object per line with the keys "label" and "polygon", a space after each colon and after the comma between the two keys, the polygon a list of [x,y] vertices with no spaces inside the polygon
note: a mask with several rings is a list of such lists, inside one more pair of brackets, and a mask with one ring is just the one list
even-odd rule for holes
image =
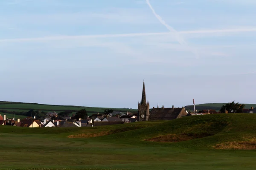
{"label": "long dark pitched roof of the church beside its tower", "polygon": [[149,114],[149,120],[177,119],[184,108],[153,108]]}

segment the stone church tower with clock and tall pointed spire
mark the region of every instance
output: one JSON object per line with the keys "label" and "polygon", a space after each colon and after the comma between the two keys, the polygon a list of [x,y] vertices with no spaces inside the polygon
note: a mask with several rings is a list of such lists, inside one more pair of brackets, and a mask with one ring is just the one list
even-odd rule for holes
{"label": "stone church tower with clock and tall pointed spire", "polygon": [[142,97],[138,104],[138,121],[148,121],[149,102],[146,100],[145,82],[143,81]]}

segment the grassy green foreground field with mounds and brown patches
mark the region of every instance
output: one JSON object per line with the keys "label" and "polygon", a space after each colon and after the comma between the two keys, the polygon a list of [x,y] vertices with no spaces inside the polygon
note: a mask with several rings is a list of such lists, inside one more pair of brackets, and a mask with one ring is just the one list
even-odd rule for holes
{"label": "grassy green foreground field with mounds and brown patches", "polygon": [[0,126],[0,169],[252,170],[255,122],[256,114],[230,113],[99,127]]}

